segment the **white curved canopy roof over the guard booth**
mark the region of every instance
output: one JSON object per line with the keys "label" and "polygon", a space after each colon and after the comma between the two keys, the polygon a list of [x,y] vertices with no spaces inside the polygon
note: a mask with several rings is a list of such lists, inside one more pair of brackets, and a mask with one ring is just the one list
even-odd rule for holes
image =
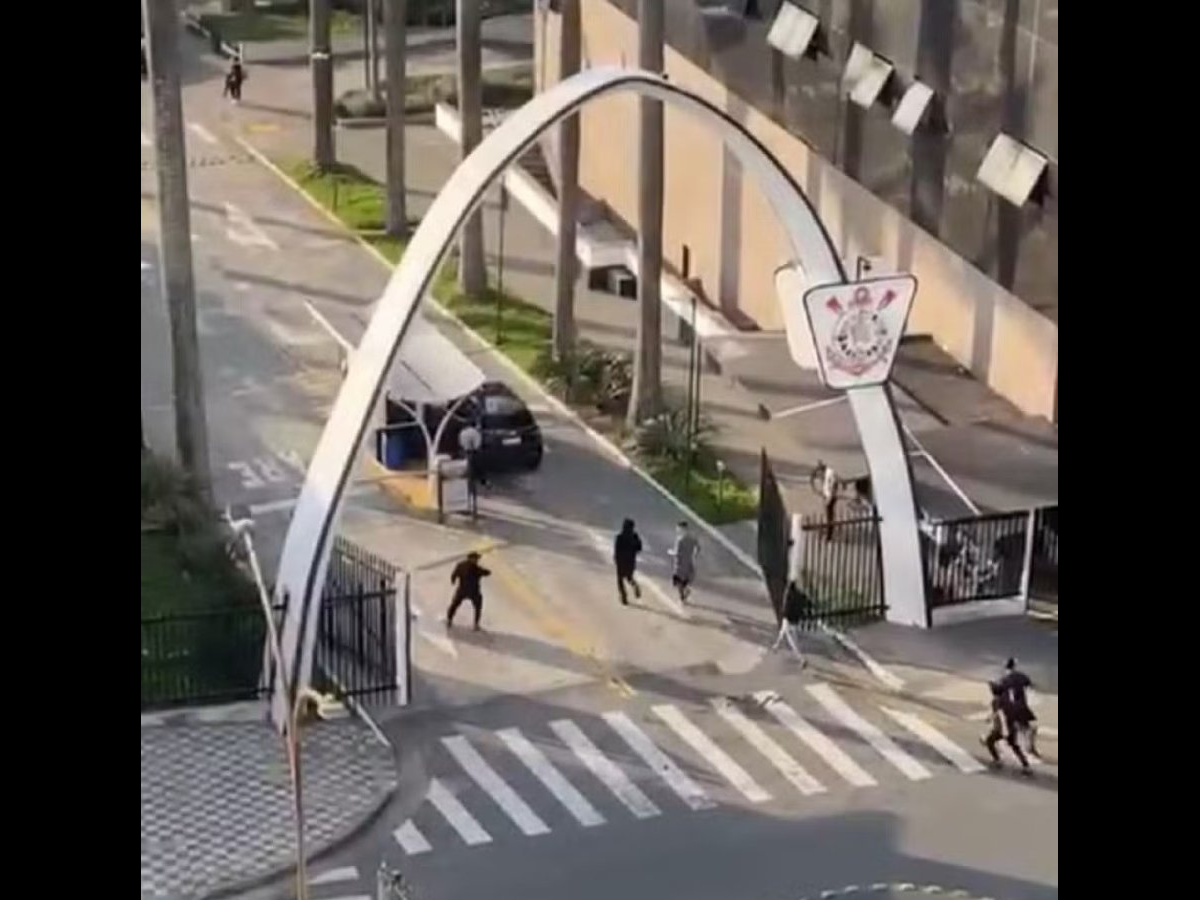
{"label": "white curved canopy roof over the guard booth", "polygon": [[445,403],[486,380],[466,353],[418,314],[388,376],[388,394],[409,403]]}

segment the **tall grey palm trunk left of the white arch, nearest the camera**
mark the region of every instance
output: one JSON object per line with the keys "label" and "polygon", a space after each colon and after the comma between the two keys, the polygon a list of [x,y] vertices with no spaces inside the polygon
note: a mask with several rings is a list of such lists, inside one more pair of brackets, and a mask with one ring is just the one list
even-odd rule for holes
{"label": "tall grey palm trunk left of the white arch, nearest the camera", "polygon": [[200,347],[196,334],[192,223],[187,205],[187,149],[179,73],[178,0],[142,0],[154,98],[155,174],[158,179],[158,269],[170,319],[175,444],[199,494],[211,498]]}

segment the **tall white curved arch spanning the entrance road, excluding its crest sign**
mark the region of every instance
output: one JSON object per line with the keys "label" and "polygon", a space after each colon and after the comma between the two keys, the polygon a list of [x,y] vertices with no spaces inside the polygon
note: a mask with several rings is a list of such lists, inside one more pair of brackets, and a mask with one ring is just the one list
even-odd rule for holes
{"label": "tall white curved arch spanning the entrance road, excluding its crest sign", "polygon": [[[388,372],[421,298],[431,287],[438,263],[463,221],[482,200],[492,180],[542,132],[589,101],[619,91],[634,91],[664,101],[696,114],[713,126],[742,167],[757,180],[784,226],[796,259],[809,275],[810,286],[846,281],[836,248],[821,220],[779,161],[721,109],[660,76],[618,67],[590,68],[536,95],[505,118],[458,166],[413,234],[376,306],[308,466],[288,527],[275,588],[276,598],[286,598],[288,604],[282,643],[294,690],[308,683],[312,671],[317,602],[329,565],[334,526],[355,455]],[[796,298],[794,302],[800,302],[800,298]],[[924,624],[924,580],[919,566],[916,505],[895,412],[886,388],[853,391],[851,403],[883,514],[883,570],[886,590],[892,595],[889,602],[894,605],[899,595],[904,595],[907,605],[907,598],[914,596],[922,613],[920,622],[913,624]],[[904,539],[904,530],[908,530],[908,540]],[[889,532],[895,532],[892,552]],[[280,694],[276,696],[282,700]]]}

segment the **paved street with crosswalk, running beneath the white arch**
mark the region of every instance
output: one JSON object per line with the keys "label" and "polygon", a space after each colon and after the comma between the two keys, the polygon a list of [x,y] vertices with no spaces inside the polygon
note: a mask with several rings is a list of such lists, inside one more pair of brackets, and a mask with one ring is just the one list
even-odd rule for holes
{"label": "paved street with crosswalk, running beneath the white arch", "polygon": [[[185,49],[216,492],[254,506],[274,569],[341,378],[304,304],[356,341],[388,272],[246,157],[233,133],[272,132],[232,120],[216,102],[217,64]],[[430,132],[414,128],[424,137],[410,152],[440,140]],[[142,200],[143,408],[151,444],[167,449],[169,343],[145,166]],[[317,900],[368,896],[380,859],[421,900],[754,900],[905,882],[1057,896],[1056,744],[1032,781],[979,772],[978,724],[881,695],[823,641],[806,638],[805,671],[764,659],[761,583],[703,535],[701,583],[680,607],[665,578],[674,508],[440,326],[526,396],[547,456],[536,475],[497,486],[478,526],[406,518],[374,488],[354,490],[342,533],[414,572],[416,697],[380,716],[397,796],[313,866]],[[648,545],[644,599],[629,610],[607,562],[625,515]],[[448,632],[437,618],[449,566],[473,547],[493,570],[487,630]]]}

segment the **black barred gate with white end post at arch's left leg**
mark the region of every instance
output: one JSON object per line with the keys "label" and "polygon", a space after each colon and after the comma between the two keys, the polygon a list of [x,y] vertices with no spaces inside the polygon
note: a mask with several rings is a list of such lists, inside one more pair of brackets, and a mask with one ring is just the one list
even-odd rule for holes
{"label": "black barred gate with white end post at arch's left leg", "polygon": [[355,703],[410,700],[409,581],[391,563],[337,538],[317,625],[313,686]]}

